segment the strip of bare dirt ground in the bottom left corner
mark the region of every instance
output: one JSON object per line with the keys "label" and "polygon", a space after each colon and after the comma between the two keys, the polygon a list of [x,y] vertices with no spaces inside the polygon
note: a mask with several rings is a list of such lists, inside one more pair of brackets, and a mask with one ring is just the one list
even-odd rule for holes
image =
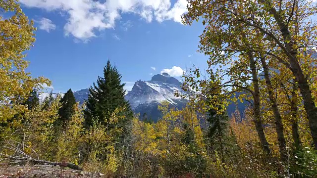
{"label": "strip of bare dirt ground in the bottom left corner", "polygon": [[99,173],[89,173],[60,167],[11,166],[0,167],[0,178],[111,178]]}

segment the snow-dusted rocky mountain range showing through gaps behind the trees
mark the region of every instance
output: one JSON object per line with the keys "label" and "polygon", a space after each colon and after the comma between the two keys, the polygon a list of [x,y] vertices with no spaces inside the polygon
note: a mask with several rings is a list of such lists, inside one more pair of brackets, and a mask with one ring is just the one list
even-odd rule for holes
{"label": "snow-dusted rocky mountain range showing through gaps behind the trees", "polygon": [[[157,121],[161,117],[161,112],[158,110],[159,103],[167,100],[172,107],[181,109],[186,105],[187,100],[180,97],[176,97],[174,93],[176,91],[185,94],[182,91],[182,84],[175,78],[171,77],[167,73],[154,75],[150,81],[137,81],[135,82],[131,91],[128,91],[125,95],[125,99],[129,101],[134,113],[140,113],[142,118],[146,113],[149,120]],[[88,89],[81,89],[74,92],[76,101],[82,104],[88,98]],[[50,93],[41,93],[39,95],[40,101],[43,102]],[[63,96],[64,93],[53,93],[53,97],[57,94]],[[247,103],[240,103],[237,105],[232,103],[228,106],[228,114],[231,115],[238,107],[241,115],[247,107]]]}

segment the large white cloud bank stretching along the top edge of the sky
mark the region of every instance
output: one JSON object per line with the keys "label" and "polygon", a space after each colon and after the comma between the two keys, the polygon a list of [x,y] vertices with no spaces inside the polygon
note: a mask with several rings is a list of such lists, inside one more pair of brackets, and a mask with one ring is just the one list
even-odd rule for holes
{"label": "large white cloud bank stretching along the top edge of the sky", "polygon": [[27,7],[37,7],[48,11],[58,11],[66,16],[64,25],[66,36],[81,41],[96,37],[96,31],[114,28],[115,22],[123,13],[134,13],[147,22],[153,19],[181,21],[181,15],[187,12],[187,0],[20,0]]}

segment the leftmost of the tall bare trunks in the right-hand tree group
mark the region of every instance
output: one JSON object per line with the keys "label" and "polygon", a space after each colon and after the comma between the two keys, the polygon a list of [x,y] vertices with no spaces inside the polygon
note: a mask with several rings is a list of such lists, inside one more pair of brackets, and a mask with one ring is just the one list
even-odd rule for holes
{"label": "leftmost of the tall bare trunks in the right-hand tree group", "polygon": [[261,119],[261,113],[260,113],[260,89],[259,89],[259,80],[258,80],[258,74],[257,74],[257,67],[256,63],[253,58],[252,52],[248,53],[249,59],[250,59],[250,69],[252,70],[252,82],[254,86],[254,94],[253,94],[253,110],[254,110],[254,120],[257,132],[260,137],[261,144],[263,146],[263,149],[265,152],[270,153],[269,145],[266,140],[263,125],[262,125],[262,119]]}

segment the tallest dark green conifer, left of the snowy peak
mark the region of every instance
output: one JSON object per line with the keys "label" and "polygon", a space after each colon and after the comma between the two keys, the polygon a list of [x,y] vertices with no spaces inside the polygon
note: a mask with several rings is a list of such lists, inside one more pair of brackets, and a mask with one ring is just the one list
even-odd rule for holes
{"label": "tallest dark green conifer, left of the snowy peak", "polygon": [[123,89],[125,84],[121,84],[121,75],[116,67],[111,66],[110,61],[107,61],[104,67],[104,76],[98,77],[97,84],[89,88],[87,100],[87,108],[85,110],[85,126],[93,125],[94,121],[107,125],[107,119],[111,113],[120,107],[125,107],[125,111],[120,113],[126,116],[122,121],[119,121],[115,126],[123,128],[126,121],[132,119],[133,112],[129,103],[124,99],[126,92]]}

